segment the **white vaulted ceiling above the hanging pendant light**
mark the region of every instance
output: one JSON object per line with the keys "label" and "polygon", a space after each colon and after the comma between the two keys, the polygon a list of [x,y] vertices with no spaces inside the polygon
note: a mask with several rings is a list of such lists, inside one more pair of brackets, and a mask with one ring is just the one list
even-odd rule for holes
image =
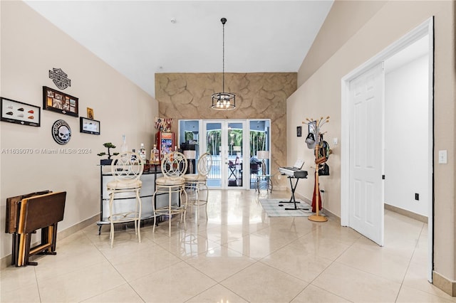
{"label": "white vaulted ceiling above the hanging pendant light", "polygon": [[155,73],[222,72],[222,17],[226,73],[297,72],[333,1],[26,4],[155,97]]}

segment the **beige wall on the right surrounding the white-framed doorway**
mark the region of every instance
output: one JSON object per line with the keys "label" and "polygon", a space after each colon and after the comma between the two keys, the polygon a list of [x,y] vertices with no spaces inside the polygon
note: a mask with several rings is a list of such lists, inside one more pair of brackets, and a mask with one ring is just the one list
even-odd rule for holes
{"label": "beige wall on the right surrounding the white-framed doorway", "polygon": [[[304,80],[287,102],[288,132],[306,117],[331,116],[324,131],[326,140],[341,138],[341,78],[357,68],[369,58],[397,41],[405,33],[435,16],[435,92],[434,92],[434,270],[454,281],[456,278],[455,252],[455,7],[454,1],[385,1],[366,7],[353,6],[352,1],[336,1],[328,19],[318,33],[317,41],[331,44],[340,31],[345,41],[338,41],[337,50],[324,60],[318,58],[318,49],[309,52],[305,61],[320,60],[318,68],[306,65],[299,71],[299,79]],[[368,1],[365,1],[368,2]],[[351,9],[347,10],[349,6]],[[372,14],[373,9],[375,14]],[[341,26],[365,12],[371,15],[359,28]],[[335,22],[337,21],[337,22]],[[355,32],[356,30],[356,32]],[[321,46],[320,48],[323,48]],[[315,71],[312,71],[314,69]],[[302,76],[301,76],[302,74]],[[310,76],[309,76],[310,75]],[[302,77],[302,78],[301,78]],[[321,186],[326,190],[326,208],[340,216],[341,212],[341,146],[331,145],[333,154],[328,160],[331,176],[321,178]],[[295,158],[293,151],[303,142],[287,142],[287,161]],[[448,151],[448,163],[437,164],[438,150]],[[305,151],[311,161],[310,151]],[[413,178],[413,176],[410,176]],[[312,196],[313,181],[302,182],[296,190],[306,197]]]}

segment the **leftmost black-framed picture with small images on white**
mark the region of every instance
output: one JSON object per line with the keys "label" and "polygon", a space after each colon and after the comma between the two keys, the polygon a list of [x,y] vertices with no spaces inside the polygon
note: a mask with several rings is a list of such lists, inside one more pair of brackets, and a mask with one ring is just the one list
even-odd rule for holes
{"label": "leftmost black-framed picture with small images on white", "polygon": [[39,127],[40,107],[1,97],[1,121]]}

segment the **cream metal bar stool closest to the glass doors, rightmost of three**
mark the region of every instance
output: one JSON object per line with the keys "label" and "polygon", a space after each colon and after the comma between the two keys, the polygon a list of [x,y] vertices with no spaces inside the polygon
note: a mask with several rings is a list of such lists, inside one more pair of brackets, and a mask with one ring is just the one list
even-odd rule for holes
{"label": "cream metal bar stool closest to the glass doors, rightmost of three", "polygon": [[[190,214],[192,212],[193,204],[196,204],[196,218],[197,222],[199,219],[199,206],[205,206],[204,211],[206,213],[207,220],[207,198],[209,196],[209,191],[207,188],[207,175],[212,168],[212,156],[209,153],[202,154],[198,159],[197,164],[197,174],[186,174],[184,175],[185,179],[185,188],[190,189],[190,191],[195,191],[195,200],[190,198]],[[204,198],[199,196],[199,191],[201,189],[206,190],[206,195]],[[199,223],[198,223],[199,224]]]}

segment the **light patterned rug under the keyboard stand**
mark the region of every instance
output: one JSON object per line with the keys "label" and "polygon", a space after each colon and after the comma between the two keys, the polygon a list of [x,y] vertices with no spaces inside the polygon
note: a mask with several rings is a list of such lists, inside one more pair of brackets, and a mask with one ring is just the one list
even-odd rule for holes
{"label": "light patterned rug under the keyboard stand", "polygon": [[259,203],[269,217],[309,217],[314,214],[312,207],[306,202],[296,200],[298,209],[286,210],[285,208],[294,208],[294,203],[284,203],[284,201],[288,202],[289,199],[260,199]]}

